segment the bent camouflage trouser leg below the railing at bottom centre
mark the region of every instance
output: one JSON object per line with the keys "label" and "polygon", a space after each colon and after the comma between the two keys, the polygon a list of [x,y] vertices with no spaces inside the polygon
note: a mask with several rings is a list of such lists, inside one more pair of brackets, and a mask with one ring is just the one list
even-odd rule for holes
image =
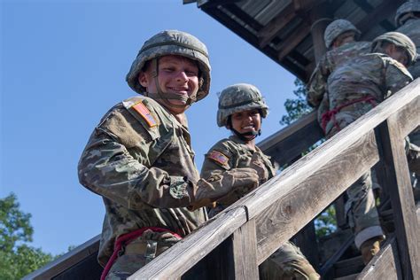
{"label": "bent camouflage trouser leg below the railing at bottom centre", "polygon": [[315,280],[320,276],[299,248],[286,242],[260,265],[260,278],[264,280]]}

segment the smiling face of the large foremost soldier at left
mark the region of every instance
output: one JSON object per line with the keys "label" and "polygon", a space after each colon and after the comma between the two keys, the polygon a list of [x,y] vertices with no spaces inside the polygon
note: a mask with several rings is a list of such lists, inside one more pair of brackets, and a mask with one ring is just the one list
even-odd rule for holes
{"label": "smiling face of the large foremost soldier at left", "polygon": [[[139,74],[139,82],[148,92],[158,92],[156,82],[152,77],[152,67]],[[173,93],[183,97],[191,97],[197,95],[198,91],[198,66],[197,63],[182,56],[168,55],[159,58],[158,63],[159,87],[165,96],[166,93]],[[157,100],[161,102],[161,100]],[[165,102],[165,106],[172,113],[183,113],[187,108],[186,101],[178,99],[170,99]],[[177,106],[171,106],[177,105]],[[181,105],[179,107],[178,105]],[[184,107],[182,105],[185,105]]]}

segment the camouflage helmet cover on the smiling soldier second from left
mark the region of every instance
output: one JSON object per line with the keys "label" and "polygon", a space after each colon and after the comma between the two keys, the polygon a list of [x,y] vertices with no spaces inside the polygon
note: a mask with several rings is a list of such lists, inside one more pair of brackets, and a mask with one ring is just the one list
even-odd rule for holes
{"label": "camouflage helmet cover on the smiling soldier second from left", "polygon": [[268,106],[262,98],[260,90],[248,83],[231,85],[220,93],[217,125],[225,127],[228,124],[228,117],[232,113],[253,109],[260,109],[262,118],[268,114]]}

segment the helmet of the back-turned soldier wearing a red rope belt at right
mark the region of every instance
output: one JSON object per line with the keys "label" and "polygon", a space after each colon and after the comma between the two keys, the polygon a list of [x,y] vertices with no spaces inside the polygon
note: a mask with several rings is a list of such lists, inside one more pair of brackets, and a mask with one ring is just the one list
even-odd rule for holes
{"label": "helmet of the back-turned soldier wearing a red rope belt at right", "polygon": [[403,48],[408,54],[408,66],[412,65],[416,61],[416,45],[413,43],[413,41],[411,41],[410,38],[408,38],[407,35],[403,35],[402,33],[395,31],[386,32],[383,35],[378,35],[372,41],[372,51],[375,51],[377,49],[377,44],[383,41],[393,43],[397,47]]}

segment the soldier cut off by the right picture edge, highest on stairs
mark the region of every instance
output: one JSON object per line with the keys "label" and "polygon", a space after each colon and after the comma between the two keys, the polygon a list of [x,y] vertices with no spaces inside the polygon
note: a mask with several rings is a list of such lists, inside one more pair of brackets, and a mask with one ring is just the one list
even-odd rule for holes
{"label": "soldier cut off by the right picture edge, highest on stairs", "polygon": [[[408,37],[416,44],[417,53],[420,51],[420,2],[409,1],[398,8],[395,14],[395,24],[398,29],[396,31],[408,35]],[[420,61],[408,67],[409,73],[413,79],[420,77]],[[417,183],[420,179],[420,128],[417,128],[409,136],[410,149],[408,150],[408,163],[410,170],[416,173]]]}

